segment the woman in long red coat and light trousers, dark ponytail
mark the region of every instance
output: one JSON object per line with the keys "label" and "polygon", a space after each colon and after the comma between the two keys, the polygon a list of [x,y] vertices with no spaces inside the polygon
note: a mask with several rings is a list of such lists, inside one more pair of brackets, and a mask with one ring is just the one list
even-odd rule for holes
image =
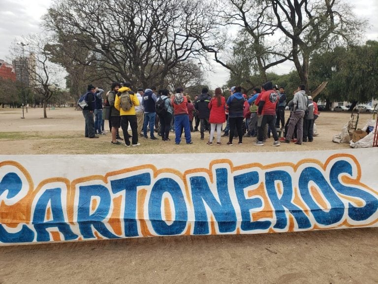
{"label": "woman in long red coat and light trousers, dark ponytail", "polygon": [[213,145],[213,137],[215,133],[215,129],[217,129],[217,145],[221,145],[221,128],[223,123],[226,121],[226,114],[225,114],[225,104],[226,99],[222,96],[221,88],[215,89],[215,96],[211,99],[209,103],[210,109],[210,138],[208,145]]}

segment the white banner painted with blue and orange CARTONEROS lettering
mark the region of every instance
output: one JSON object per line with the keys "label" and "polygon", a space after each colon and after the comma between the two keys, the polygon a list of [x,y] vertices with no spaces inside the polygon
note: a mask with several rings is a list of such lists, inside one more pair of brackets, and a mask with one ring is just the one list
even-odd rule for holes
{"label": "white banner painted with blue and orange CARTONEROS lettering", "polygon": [[0,245],[378,223],[378,148],[0,156]]}

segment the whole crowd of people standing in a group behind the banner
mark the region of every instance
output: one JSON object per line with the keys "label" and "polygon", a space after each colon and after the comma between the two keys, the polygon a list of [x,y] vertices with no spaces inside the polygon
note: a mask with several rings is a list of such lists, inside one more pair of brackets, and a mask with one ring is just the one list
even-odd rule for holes
{"label": "whole crowd of people standing in a group behind the banner", "polygon": [[[228,137],[227,145],[233,145],[234,138],[239,145],[243,144],[243,138],[256,138],[253,145],[263,146],[271,135],[273,146],[280,146],[281,142],[298,145],[313,142],[318,110],[311,96],[306,95],[304,85],[298,86],[289,102],[284,87],[278,88],[272,82],[254,88],[249,96],[240,86],[231,87],[229,92],[225,100],[221,88],[216,88],[213,96],[203,88],[192,101],[183,88],[177,88],[175,93],[167,89],[157,91],[155,87],[139,88],[134,93],[129,82],[114,82],[105,94],[103,89],[91,84],[83,96],[85,137],[105,135],[104,124],[108,120],[111,143],[121,145],[124,141],[127,147],[139,146],[140,138],[159,140],[155,133],[162,141],[169,142],[170,132],[175,133],[176,144],[182,142],[183,134],[185,142],[192,144],[191,133],[198,131],[198,127],[201,140],[208,133],[207,145],[213,145],[216,133],[217,145],[222,144],[221,137]],[[287,106],[290,116],[285,121]]]}

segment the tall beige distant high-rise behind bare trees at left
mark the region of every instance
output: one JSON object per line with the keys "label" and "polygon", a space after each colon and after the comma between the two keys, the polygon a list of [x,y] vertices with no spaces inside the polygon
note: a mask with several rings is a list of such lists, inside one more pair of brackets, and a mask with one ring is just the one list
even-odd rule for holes
{"label": "tall beige distant high-rise behind bare trees at left", "polygon": [[18,57],[13,60],[13,69],[17,81],[28,87],[35,84],[35,56],[33,53],[28,57]]}

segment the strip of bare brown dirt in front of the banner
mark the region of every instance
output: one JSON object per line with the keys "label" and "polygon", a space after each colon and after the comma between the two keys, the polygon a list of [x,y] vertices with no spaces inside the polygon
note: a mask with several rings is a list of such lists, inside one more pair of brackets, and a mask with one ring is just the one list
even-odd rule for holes
{"label": "strip of bare brown dirt in front of the banner", "polygon": [[0,248],[0,283],[378,283],[378,228]]}

